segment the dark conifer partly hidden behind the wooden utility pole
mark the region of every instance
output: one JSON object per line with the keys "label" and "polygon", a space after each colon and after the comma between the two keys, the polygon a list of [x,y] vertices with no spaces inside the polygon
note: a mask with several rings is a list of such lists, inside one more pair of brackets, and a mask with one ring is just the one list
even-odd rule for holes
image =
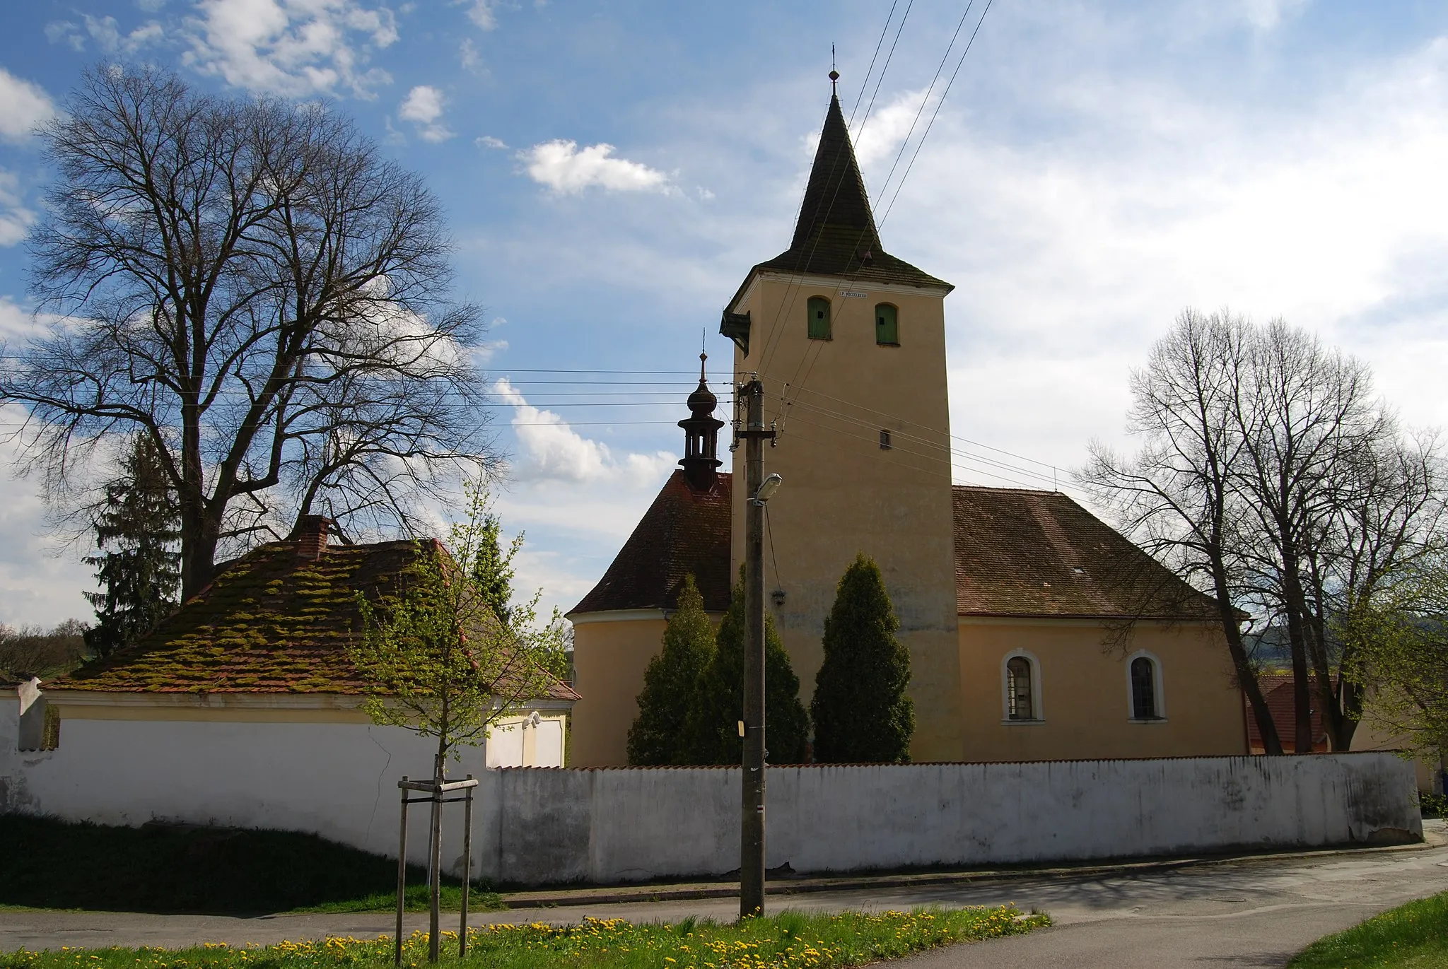
{"label": "dark conifer partly hidden behind the wooden utility pole", "polygon": [[[689,763],[740,763],[738,721],[744,713],[744,572],[715,637],[718,649],[699,676],[686,724]],[[808,755],[809,714],[799,702],[799,676],[765,616],[765,746],[770,763],[802,763]]]}

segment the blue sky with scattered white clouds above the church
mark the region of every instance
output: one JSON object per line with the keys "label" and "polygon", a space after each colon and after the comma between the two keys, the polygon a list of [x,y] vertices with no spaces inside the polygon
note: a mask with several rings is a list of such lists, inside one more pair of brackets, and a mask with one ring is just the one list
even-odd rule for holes
{"label": "blue sky with scattered white clouds above the church", "polygon": [[[877,217],[899,187],[886,248],[959,287],[951,432],[975,442],[959,445],[959,481],[1040,485],[1025,472],[1080,463],[1093,437],[1124,440],[1129,368],[1184,306],[1284,316],[1370,361],[1407,423],[1448,421],[1448,7],[993,0],[909,177],[886,185],[964,7],[901,0],[886,49],[906,6],[857,142]],[[830,45],[849,113],[889,12],[10,4],[0,333],[14,343],[30,326],[19,242],[48,172],[26,132],[85,65],[152,62],[206,90],[332,98],[449,213],[459,295],[488,309],[489,377],[515,394],[497,424],[511,455],[500,510],[529,539],[520,585],[568,607],[676,459],[683,413],[562,407],[559,391],[576,388],[530,371],[688,369],[708,332],[725,375],[720,307],[788,243]],[[924,117],[934,110],[935,96]],[[0,621],[88,614],[85,549],[48,534],[36,482],[3,479],[0,498]]]}

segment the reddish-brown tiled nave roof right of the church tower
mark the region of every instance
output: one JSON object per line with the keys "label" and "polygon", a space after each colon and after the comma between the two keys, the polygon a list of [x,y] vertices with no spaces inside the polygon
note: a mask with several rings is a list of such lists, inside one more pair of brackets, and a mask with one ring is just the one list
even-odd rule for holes
{"label": "reddish-brown tiled nave roof right of the church tower", "polygon": [[1206,616],[1195,591],[1058,491],[954,487],[961,616]]}

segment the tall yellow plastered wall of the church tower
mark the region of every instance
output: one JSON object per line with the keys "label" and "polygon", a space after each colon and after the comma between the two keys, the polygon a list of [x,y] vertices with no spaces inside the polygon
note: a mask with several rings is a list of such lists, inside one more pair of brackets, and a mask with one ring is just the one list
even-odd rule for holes
{"label": "tall yellow plastered wall of the church tower", "polygon": [[[831,304],[831,339],[808,336],[809,297]],[[730,307],[752,319],[740,378],[765,382],[778,446],[765,472],[785,482],[769,503],[767,608],[809,702],[824,618],[857,552],[880,566],[911,653],[917,760],[964,756],[956,632],[946,290],[759,274]],[[899,346],[875,342],[875,307],[896,307]],[[786,390],[786,384],[789,388]],[[802,388],[802,390],[801,390]],[[794,403],[786,408],[783,400]],[[892,448],[880,448],[880,432]],[[733,571],[744,555],[743,450],[734,455]],[[772,597],[785,594],[782,605]]]}

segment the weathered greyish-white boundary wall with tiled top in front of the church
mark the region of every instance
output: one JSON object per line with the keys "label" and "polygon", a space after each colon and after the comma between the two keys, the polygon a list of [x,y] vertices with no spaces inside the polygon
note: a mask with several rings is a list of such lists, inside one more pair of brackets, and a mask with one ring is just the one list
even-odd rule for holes
{"label": "weathered greyish-white boundary wall with tiled top in front of the church", "polygon": [[[494,879],[738,868],[738,768],[489,779],[479,840]],[[1413,766],[1392,753],[770,768],[767,785],[766,865],[796,872],[1422,840]]]}

